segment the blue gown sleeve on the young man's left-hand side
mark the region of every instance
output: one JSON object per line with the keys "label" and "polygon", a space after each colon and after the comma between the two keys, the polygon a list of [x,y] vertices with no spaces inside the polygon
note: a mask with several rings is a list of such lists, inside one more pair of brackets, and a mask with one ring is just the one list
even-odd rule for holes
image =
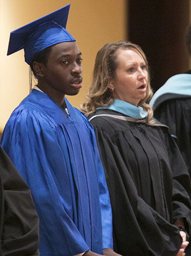
{"label": "blue gown sleeve on the young man's left-hand side", "polygon": [[[31,189],[40,218],[40,253],[52,255],[51,249],[47,252],[44,247],[56,248],[59,255],[66,256],[87,251],[89,247],[70,217],[71,184],[53,123],[42,113],[15,111],[4,129],[1,145]],[[62,175],[62,187],[57,173]]]}

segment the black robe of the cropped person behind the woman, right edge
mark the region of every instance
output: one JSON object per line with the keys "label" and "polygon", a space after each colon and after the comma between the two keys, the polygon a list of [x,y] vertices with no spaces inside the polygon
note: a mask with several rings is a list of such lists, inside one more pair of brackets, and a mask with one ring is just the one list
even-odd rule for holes
{"label": "black robe of the cropped person behind the woman, right edge", "polygon": [[191,175],[191,96],[174,94],[170,99],[167,96],[162,104],[155,106],[154,116],[169,126]]}

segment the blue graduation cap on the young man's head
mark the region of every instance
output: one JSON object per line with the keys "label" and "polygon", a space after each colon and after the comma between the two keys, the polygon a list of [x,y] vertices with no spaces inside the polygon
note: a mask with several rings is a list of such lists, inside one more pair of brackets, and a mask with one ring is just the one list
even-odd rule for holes
{"label": "blue graduation cap on the young man's head", "polygon": [[65,30],[69,9],[70,4],[12,31],[7,55],[24,49],[25,61],[30,65],[35,54],[46,47],[75,41]]}

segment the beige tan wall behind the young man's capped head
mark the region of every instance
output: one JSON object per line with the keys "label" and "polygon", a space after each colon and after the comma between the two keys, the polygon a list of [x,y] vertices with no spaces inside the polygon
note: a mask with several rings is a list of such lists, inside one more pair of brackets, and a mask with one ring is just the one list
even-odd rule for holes
{"label": "beige tan wall behind the young man's capped head", "polygon": [[68,3],[66,29],[76,39],[83,57],[83,88],[77,96],[67,97],[72,105],[84,101],[99,48],[126,39],[126,0],[0,0],[0,130],[29,93],[29,66],[23,50],[6,56],[10,32]]}

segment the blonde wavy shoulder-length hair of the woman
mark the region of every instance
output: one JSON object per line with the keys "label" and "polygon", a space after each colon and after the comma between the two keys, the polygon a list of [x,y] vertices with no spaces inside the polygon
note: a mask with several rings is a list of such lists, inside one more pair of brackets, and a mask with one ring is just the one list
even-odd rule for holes
{"label": "blonde wavy shoulder-length hair of the woman", "polygon": [[142,49],[129,41],[119,41],[115,43],[108,43],[103,46],[96,55],[96,61],[93,72],[92,83],[89,87],[88,93],[85,95],[86,102],[79,106],[79,109],[85,113],[85,115],[91,114],[96,111],[96,108],[108,106],[114,101],[113,93],[108,88],[109,81],[115,77],[115,71],[117,68],[117,54],[119,49],[133,48],[142,56],[146,63],[146,69],[148,71],[148,84],[146,90],[146,96],[141,99],[138,106],[141,106],[148,112],[147,123],[152,123],[153,116],[152,108],[149,106],[149,101],[153,95],[150,82],[149,82],[149,68],[147,58]]}

